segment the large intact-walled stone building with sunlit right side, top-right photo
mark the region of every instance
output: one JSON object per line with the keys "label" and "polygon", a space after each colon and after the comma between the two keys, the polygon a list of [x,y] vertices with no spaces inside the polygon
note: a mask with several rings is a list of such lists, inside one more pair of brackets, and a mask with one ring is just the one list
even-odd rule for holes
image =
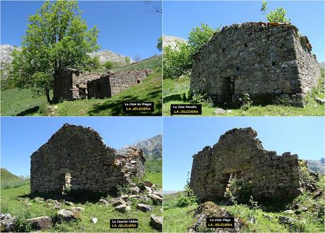
{"label": "large intact-walled stone building with sunlit right side, top-right photo", "polygon": [[321,76],[311,51],[308,38],[288,23],[225,26],[195,55],[190,89],[206,92],[215,104],[235,104],[248,93],[256,104],[285,97],[303,107]]}

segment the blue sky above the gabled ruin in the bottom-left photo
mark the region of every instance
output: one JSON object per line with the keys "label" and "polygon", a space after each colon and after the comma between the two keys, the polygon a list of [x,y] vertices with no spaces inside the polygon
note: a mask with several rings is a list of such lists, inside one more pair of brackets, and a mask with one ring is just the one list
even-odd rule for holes
{"label": "blue sky above the gabled ruin in the bottom-left photo", "polygon": [[30,155],[64,123],[91,127],[116,149],[162,133],[160,117],[1,117],[1,167],[30,174]]}

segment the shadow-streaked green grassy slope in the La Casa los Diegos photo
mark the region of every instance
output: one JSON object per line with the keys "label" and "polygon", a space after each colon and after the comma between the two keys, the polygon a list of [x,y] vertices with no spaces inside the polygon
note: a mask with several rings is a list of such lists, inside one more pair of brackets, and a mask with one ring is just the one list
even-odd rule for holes
{"label": "shadow-streaked green grassy slope in the La Casa los Diegos photo", "polygon": [[[128,71],[139,68],[152,68],[152,73],[146,80],[124,92],[120,92],[105,100],[66,101],[59,104],[47,104],[46,97],[32,98],[31,90],[13,88],[1,92],[1,116],[22,114],[25,116],[125,116],[122,112],[124,101],[155,102],[152,113],[132,113],[131,115],[161,115],[162,112],[162,80],[161,57],[129,64],[115,66],[114,71]],[[103,71],[98,71],[103,72]],[[52,95],[52,93],[51,93]]]}

